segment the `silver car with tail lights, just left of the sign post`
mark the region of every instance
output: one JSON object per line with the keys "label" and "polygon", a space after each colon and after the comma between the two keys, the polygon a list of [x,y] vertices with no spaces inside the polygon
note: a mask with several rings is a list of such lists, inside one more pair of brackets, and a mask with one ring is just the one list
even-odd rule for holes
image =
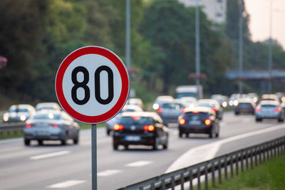
{"label": "silver car with tail lights, just left of the sign post", "polygon": [[78,144],[80,127],[66,112],[59,110],[41,110],[26,120],[24,127],[24,144],[29,145],[31,140],[43,144],[43,140],[60,140],[66,144],[73,139]]}

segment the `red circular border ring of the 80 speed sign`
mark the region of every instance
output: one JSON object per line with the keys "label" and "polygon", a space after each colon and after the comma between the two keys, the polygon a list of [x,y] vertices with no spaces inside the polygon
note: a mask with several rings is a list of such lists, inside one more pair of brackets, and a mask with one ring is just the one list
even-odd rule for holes
{"label": "red circular border ring of the 80 speed sign", "polygon": [[[73,62],[73,60],[87,54],[98,54],[100,56],[108,58],[112,63],[114,63],[116,68],[118,68],[120,77],[122,79],[122,90],[118,102],[116,102],[116,104],[108,112],[105,112],[102,115],[88,116],[77,112],[68,104],[68,102],[66,101],[66,97],[63,94],[63,75],[66,72],[66,69]],[[106,120],[109,120],[110,118],[114,117],[118,112],[120,112],[120,110],[125,105],[129,91],[130,80],[123,61],[120,60],[120,58],[112,51],[109,51],[108,49],[99,46],[86,46],[83,48],[78,48],[76,51],[73,51],[63,60],[63,62],[58,68],[58,72],[56,73],[56,97],[58,98],[58,102],[61,104],[61,107],[63,107],[63,110],[65,110],[69,115],[71,115],[71,117],[80,122],[96,124],[100,122],[105,122]]]}

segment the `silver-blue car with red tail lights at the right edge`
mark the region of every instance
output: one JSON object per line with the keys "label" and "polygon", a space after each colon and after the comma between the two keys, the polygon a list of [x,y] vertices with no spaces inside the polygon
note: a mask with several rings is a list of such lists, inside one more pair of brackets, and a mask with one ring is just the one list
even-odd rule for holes
{"label": "silver-blue car with red tail lights at the right edge", "polygon": [[263,119],[276,119],[284,122],[284,109],[279,101],[262,100],[255,108],[255,120],[261,122]]}

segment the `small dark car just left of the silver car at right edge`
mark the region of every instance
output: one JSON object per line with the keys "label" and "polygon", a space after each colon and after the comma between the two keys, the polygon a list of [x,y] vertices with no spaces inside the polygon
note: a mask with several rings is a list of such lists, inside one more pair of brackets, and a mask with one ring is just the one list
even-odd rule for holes
{"label": "small dark car just left of the silver car at right edge", "polygon": [[251,113],[254,115],[254,110],[257,105],[252,98],[240,98],[238,104],[234,107],[234,114],[239,115],[241,113]]}

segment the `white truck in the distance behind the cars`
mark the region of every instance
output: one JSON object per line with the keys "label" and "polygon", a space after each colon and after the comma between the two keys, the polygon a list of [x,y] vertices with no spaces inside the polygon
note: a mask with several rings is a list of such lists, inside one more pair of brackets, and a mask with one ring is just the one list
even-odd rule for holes
{"label": "white truck in the distance behind the cars", "polygon": [[199,85],[199,88],[196,85],[180,85],[177,86],[175,92],[177,99],[181,97],[195,97],[197,100],[203,98],[202,85]]}

